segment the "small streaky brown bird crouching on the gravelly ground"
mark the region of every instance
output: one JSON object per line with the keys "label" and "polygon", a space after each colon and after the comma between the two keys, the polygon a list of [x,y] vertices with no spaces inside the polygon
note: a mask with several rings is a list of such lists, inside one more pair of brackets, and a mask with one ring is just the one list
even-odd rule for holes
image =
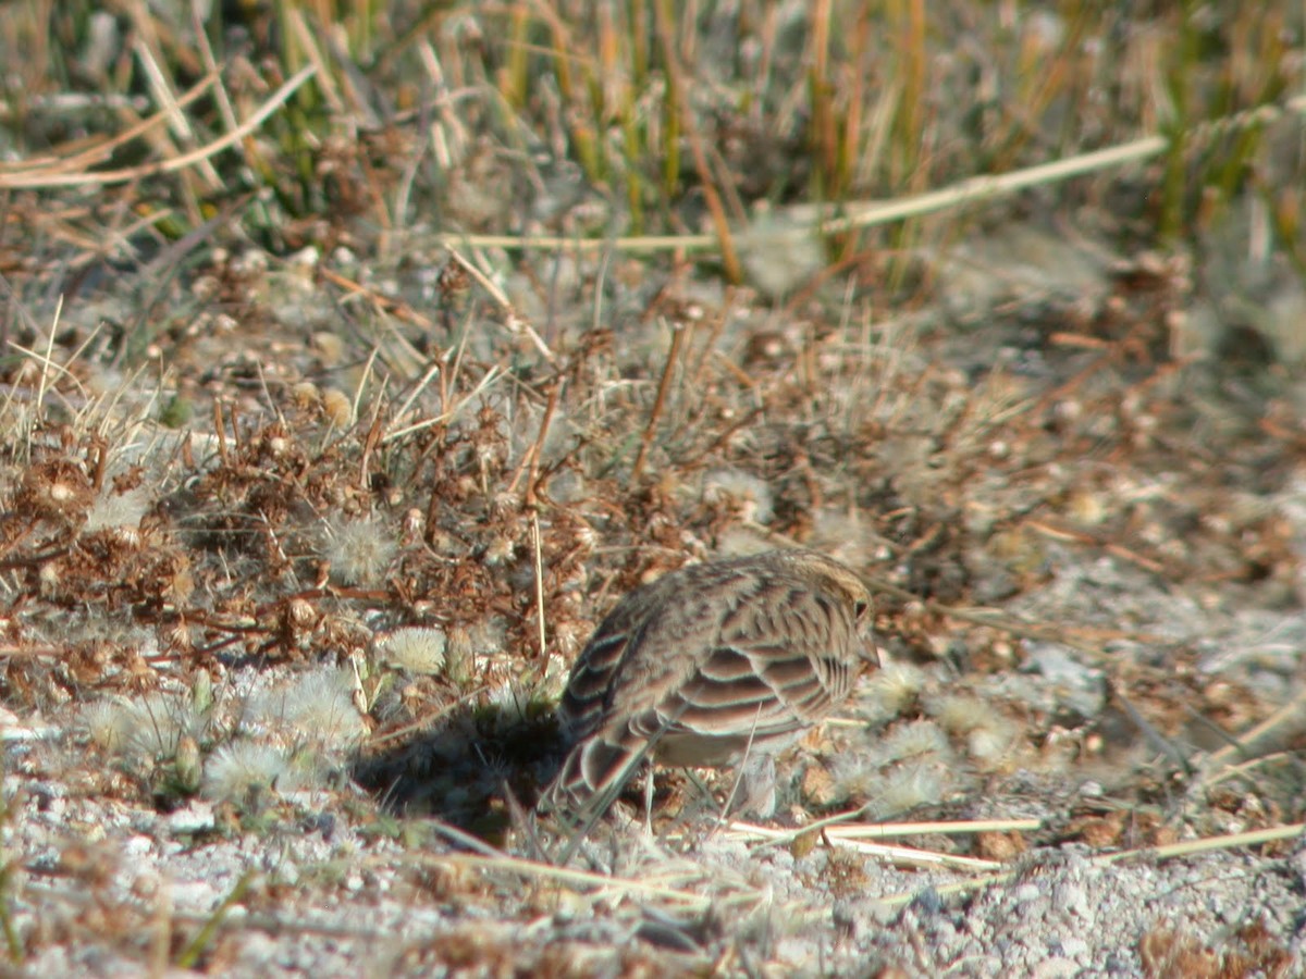
{"label": "small streaky brown bird crouching on the gravelly ground", "polygon": [[572,667],[558,711],[571,752],[539,811],[597,815],[645,757],[769,761],[875,662],[868,612],[861,580],[814,551],[697,564],[636,589]]}

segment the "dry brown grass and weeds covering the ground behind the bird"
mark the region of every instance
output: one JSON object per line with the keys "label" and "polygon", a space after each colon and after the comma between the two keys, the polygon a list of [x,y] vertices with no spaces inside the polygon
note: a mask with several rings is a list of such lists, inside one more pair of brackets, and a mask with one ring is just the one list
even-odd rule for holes
{"label": "dry brown grass and weeds covering the ground behind the bird", "polygon": [[[316,792],[525,846],[594,623],[789,542],[917,670],[806,745],[794,813],[1110,771],[936,863],[1296,831],[1299,649],[1033,597],[1109,563],[1301,607],[1299,9],[102,7],[0,13],[0,697],[59,731],[26,778],[209,799],[215,835]],[[1020,687],[1049,646],[1101,696]],[[861,751],[908,724],[938,757]],[[692,796],[660,790],[665,841],[712,824]],[[69,940],[14,924],[31,888],[9,860],[14,962]],[[249,889],[133,954],[221,963],[230,906],[277,903]]]}

